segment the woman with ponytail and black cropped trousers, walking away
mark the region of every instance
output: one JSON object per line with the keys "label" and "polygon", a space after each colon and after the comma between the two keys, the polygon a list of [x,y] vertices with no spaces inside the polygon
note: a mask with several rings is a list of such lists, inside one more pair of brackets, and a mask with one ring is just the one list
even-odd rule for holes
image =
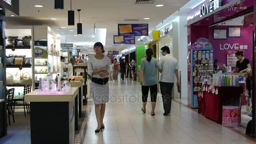
{"label": "woman with ponytail and black cropped trousers, walking away", "polygon": [[140,80],[142,89],[142,101],[143,107],[142,112],[146,112],[147,97],[150,88],[151,96],[151,115],[155,115],[155,105],[157,102],[157,68],[159,71],[162,70],[157,59],[152,57],[153,51],[148,48],[146,51],[147,58],[141,59],[141,70],[140,70]]}

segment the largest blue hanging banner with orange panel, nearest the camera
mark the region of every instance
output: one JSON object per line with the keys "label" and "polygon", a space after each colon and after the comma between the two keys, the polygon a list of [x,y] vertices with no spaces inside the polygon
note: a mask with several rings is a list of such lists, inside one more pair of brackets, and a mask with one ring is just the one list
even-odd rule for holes
{"label": "largest blue hanging banner with orange panel, nearest the camera", "polygon": [[148,36],[149,24],[118,24],[118,35]]}

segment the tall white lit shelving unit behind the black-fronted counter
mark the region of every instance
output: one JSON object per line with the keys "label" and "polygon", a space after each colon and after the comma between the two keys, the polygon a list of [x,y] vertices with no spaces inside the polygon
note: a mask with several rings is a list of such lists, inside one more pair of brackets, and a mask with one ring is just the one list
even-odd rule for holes
{"label": "tall white lit shelving unit behind the black-fronted counter", "polygon": [[60,35],[47,26],[34,26],[35,35],[35,88],[39,79],[47,74],[56,77],[60,73]]}

